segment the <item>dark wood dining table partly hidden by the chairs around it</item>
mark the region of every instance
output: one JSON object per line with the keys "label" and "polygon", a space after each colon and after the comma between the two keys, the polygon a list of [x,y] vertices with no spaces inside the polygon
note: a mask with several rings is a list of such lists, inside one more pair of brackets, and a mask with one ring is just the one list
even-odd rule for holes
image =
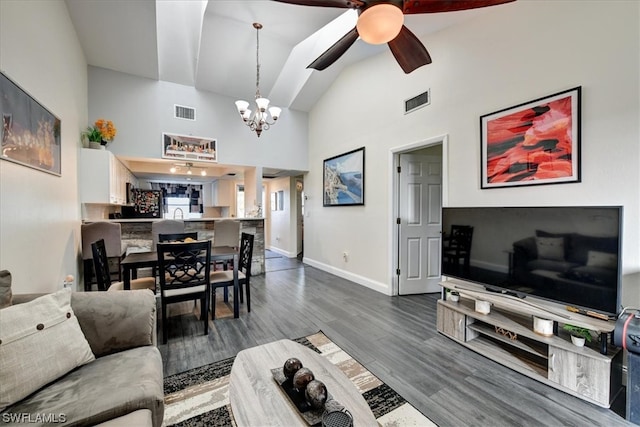
{"label": "dark wood dining table partly hidden by the chairs around it", "polygon": [[[239,250],[234,246],[214,246],[211,248],[211,262],[233,261],[233,317],[240,317],[240,284],[238,282],[238,255]],[[123,287],[125,290],[131,289],[131,280],[138,278],[139,268],[157,268],[157,252],[133,252],[124,257],[120,262],[123,273]]]}

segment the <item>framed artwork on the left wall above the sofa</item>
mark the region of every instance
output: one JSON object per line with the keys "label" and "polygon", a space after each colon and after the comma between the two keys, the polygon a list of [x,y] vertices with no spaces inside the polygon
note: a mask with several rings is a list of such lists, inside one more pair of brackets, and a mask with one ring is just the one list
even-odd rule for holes
{"label": "framed artwork on the left wall above the sofa", "polygon": [[3,160],[61,176],[60,119],[0,73]]}

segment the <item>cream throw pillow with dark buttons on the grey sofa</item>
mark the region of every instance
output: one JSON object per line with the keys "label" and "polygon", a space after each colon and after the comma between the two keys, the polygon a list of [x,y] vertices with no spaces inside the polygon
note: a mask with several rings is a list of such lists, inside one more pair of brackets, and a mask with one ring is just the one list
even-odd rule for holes
{"label": "cream throw pillow with dark buttons on the grey sofa", "polygon": [[70,289],[0,310],[0,411],[93,360]]}

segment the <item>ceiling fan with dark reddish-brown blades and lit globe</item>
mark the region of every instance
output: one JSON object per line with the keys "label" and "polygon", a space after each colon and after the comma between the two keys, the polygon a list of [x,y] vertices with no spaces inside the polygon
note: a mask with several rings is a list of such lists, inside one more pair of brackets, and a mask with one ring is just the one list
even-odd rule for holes
{"label": "ceiling fan with dark reddish-brown blades and lit globe", "polygon": [[307,68],[324,70],[362,38],[371,44],[387,43],[402,70],[409,74],[431,63],[429,52],[404,26],[404,15],[453,12],[510,3],[515,0],[275,0],[300,6],[356,9],[356,27],[327,49]]}

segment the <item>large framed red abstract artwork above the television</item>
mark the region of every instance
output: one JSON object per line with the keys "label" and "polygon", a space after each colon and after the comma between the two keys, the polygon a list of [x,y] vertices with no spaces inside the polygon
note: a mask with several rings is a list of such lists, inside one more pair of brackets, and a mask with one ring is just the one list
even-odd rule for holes
{"label": "large framed red abstract artwork above the television", "polygon": [[481,188],[580,182],[576,87],[480,117]]}

